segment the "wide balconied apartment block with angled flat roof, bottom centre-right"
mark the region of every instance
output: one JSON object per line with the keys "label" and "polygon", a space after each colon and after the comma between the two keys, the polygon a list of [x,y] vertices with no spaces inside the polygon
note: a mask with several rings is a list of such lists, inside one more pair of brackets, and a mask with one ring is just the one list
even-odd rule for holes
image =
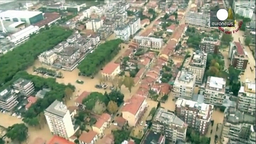
{"label": "wide balconied apartment block with angled flat roof, bottom centre-right", "polygon": [[158,108],[152,119],[152,131],[165,134],[171,142],[185,141],[187,124],[178,118],[173,112]]}

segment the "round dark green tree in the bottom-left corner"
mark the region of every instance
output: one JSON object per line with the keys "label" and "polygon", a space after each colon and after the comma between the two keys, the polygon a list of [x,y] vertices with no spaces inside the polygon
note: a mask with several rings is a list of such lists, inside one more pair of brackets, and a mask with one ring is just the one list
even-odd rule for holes
{"label": "round dark green tree in the bottom-left corner", "polygon": [[7,128],[6,137],[22,143],[28,137],[28,128],[24,123],[14,124]]}

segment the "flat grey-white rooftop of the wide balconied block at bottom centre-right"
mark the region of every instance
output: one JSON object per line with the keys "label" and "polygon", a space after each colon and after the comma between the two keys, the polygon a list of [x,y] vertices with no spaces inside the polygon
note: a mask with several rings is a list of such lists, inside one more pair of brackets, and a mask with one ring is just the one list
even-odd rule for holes
{"label": "flat grey-white rooftop of the wide balconied block at bottom centre-right", "polygon": [[163,108],[158,108],[156,111],[156,114],[153,118],[153,121],[161,122],[167,125],[179,125],[181,127],[187,126],[185,122],[183,122],[178,116],[176,116],[173,112],[163,109]]}

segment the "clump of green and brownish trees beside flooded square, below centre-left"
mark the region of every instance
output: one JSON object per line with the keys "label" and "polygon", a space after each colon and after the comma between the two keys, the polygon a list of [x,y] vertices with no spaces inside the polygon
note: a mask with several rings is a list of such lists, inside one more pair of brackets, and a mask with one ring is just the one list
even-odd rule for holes
{"label": "clump of green and brownish trees beside flooded square, below centre-left", "polygon": [[102,114],[106,109],[110,113],[115,113],[124,101],[124,94],[118,90],[113,90],[109,94],[93,92],[82,101],[88,110],[92,110],[97,115]]}

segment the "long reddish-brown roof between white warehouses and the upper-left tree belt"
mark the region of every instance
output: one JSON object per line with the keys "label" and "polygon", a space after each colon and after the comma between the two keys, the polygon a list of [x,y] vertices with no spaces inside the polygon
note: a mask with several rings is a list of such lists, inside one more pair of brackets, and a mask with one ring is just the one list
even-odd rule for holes
{"label": "long reddish-brown roof between white warehouses and the upper-left tree belt", "polygon": [[44,13],[44,19],[40,22],[34,24],[34,26],[38,26],[41,28],[42,26],[49,24],[50,22],[60,18],[59,13]]}

